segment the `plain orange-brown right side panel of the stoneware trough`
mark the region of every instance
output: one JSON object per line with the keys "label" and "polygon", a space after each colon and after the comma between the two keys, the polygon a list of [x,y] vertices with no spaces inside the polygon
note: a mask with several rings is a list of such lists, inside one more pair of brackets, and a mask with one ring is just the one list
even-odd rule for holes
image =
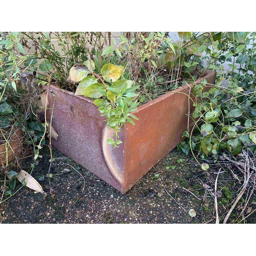
{"label": "plain orange-brown right side panel of the stoneware trough", "polygon": [[[213,84],[215,73],[209,72],[205,78]],[[135,121],[135,125],[125,124],[124,188],[126,190],[182,141],[181,134],[188,126],[188,109],[190,108],[190,113],[193,113],[193,101],[189,101],[187,95],[193,98],[189,86],[167,93],[135,111],[133,114],[139,118]]]}

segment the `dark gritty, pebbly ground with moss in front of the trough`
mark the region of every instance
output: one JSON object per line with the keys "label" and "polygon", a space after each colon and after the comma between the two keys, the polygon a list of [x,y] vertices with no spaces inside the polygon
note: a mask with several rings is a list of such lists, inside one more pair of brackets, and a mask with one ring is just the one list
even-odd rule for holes
{"label": "dark gritty, pebbly ground with moss in front of the trough", "polygon": [[[192,156],[170,152],[122,195],[55,148],[52,153],[51,178],[47,147],[32,173],[37,180],[44,174],[39,183],[47,195],[23,186],[0,205],[0,223],[215,223],[214,197],[204,193],[206,174]],[[28,173],[30,165],[31,159],[23,162]]]}

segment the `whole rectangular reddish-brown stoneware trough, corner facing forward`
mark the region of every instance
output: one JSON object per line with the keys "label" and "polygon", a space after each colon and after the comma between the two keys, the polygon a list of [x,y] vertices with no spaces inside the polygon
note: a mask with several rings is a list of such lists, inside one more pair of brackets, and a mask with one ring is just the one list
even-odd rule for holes
{"label": "whole rectangular reddish-brown stoneware trough, corner facing forward", "polygon": [[[214,84],[215,72],[208,71],[196,83],[203,79]],[[92,99],[52,84],[41,94],[41,106],[51,124],[52,145],[124,194],[182,141],[188,113],[193,113],[191,87],[187,84],[139,106],[133,112],[139,120],[122,126],[123,143],[116,148],[106,143],[113,131]]]}

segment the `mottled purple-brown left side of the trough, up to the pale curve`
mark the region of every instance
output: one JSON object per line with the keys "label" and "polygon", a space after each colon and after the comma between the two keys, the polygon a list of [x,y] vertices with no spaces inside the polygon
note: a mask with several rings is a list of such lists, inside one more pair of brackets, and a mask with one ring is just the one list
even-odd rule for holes
{"label": "mottled purple-brown left side of the trough, up to the pale curve", "polygon": [[53,108],[52,129],[56,132],[53,146],[120,191],[121,186],[103,155],[102,132],[106,122],[93,101],[51,86],[48,108],[48,122]]}

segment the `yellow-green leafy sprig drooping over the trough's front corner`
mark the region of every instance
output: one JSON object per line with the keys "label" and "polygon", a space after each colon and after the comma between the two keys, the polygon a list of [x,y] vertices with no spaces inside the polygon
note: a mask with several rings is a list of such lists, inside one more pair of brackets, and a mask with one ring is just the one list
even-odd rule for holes
{"label": "yellow-green leafy sprig drooping over the trough's front corner", "polygon": [[[75,65],[71,68],[69,79],[79,82],[75,95],[94,98],[94,104],[99,107],[99,112],[106,117],[107,125],[115,131],[114,138],[107,142],[114,147],[122,143],[118,140],[118,132],[127,121],[135,124],[131,114],[137,109],[137,96],[134,91],[134,81],[122,79],[124,67],[111,63],[101,68],[101,76],[94,73],[95,67],[92,60],[84,62],[85,65]],[[121,79],[120,79],[121,78]],[[100,81],[98,81],[100,80]]]}

